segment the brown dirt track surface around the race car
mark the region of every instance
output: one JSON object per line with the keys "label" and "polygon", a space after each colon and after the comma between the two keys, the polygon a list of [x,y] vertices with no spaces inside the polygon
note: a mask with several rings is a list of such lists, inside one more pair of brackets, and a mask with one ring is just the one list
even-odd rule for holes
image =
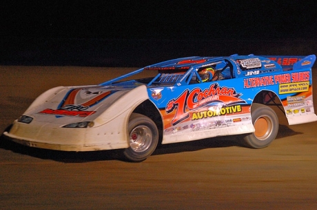
{"label": "brown dirt track surface around the race car", "polygon": [[[0,130],[47,89],[132,70],[0,67]],[[288,126],[276,112],[280,131],[268,148],[243,148],[236,136],[204,139],[163,145],[142,163],[116,151],[40,150],[1,137],[0,209],[317,209],[317,123]]]}

